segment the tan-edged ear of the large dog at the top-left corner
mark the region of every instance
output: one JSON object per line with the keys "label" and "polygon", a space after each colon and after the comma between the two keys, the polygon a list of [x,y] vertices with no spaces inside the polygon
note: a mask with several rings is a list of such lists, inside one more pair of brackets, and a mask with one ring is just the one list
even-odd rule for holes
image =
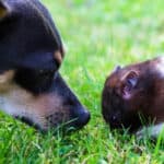
{"label": "tan-edged ear of the large dog at the top-left corner", "polygon": [[4,0],[0,0],[0,20],[4,19],[10,12],[10,7]]}

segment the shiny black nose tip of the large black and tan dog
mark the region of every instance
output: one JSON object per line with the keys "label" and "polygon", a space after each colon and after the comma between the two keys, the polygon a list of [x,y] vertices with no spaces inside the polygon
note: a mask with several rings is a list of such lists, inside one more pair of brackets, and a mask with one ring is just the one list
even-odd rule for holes
{"label": "shiny black nose tip of the large black and tan dog", "polygon": [[74,125],[78,129],[82,128],[83,126],[85,126],[91,116],[90,116],[90,113],[86,110],[86,109],[79,109],[75,112],[75,121],[74,121]]}

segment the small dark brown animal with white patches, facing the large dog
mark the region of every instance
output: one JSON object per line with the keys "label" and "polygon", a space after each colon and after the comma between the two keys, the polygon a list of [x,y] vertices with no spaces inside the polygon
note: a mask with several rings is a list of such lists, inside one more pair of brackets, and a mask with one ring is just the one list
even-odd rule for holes
{"label": "small dark brown animal with white patches, facing the large dog", "polygon": [[103,89],[102,114],[112,129],[156,138],[164,130],[163,102],[164,57],[159,57],[117,67]]}

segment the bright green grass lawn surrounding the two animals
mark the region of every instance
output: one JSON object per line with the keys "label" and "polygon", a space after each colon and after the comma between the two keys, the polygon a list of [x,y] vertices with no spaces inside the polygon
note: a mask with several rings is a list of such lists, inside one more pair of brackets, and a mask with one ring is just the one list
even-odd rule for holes
{"label": "bright green grass lawn surrounding the two animals", "polygon": [[89,125],[71,136],[42,134],[0,114],[0,163],[163,164],[164,142],[110,132],[101,114],[106,75],[117,65],[163,54],[163,0],[43,0],[67,48],[60,72],[89,108]]}

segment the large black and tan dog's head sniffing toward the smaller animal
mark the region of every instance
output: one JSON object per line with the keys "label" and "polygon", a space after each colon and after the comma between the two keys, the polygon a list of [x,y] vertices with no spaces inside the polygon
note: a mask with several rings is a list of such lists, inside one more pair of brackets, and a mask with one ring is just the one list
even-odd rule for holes
{"label": "large black and tan dog's head sniffing toward the smaller animal", "polygon": [[81,128],[89,112],[60,77],[60,36],[38,0],[0,0],[0,108],[47,131]]}

